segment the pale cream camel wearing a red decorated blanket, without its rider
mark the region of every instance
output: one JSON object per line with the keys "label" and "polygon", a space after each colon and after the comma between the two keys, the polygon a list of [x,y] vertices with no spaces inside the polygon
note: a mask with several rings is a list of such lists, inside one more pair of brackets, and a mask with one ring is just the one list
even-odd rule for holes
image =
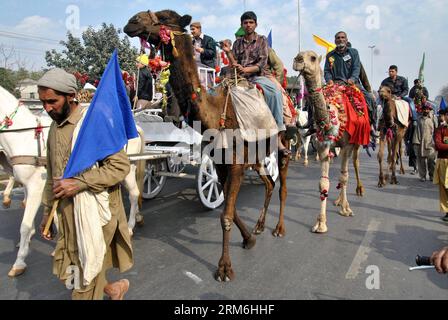
{"label": "pale cream camel wearing a red decorated blanket, without its rider", "polygon": [[322,87],[321,58],[313,51],[301,52],[294,59],[294,70],[304,77],[314,118],[318,127],[318,153],[321,161],[320,198],[321,211],[312,232],[326,233],[327,200],[330,191],[330,160],[334,156],[332,147],[340,147],[342,158],[338,189],[339,197],[335,205],[340,206],[340,214],[353,215],[347,199],[348,164],[353,154],[355,171],[358,176],[357,193],[362,195],[364,188],[359,180],[359,151],[361,145],[369,143],[370,124],[367,105],[359,89],[352,86]]}

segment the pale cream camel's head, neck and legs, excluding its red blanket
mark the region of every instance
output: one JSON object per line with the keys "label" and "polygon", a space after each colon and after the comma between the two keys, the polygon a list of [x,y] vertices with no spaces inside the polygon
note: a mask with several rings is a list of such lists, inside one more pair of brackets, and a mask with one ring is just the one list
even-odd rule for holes
{"label": "pale cream camel's head, neck and legs, excluding its red blanket", "polygon": [[[318,154],[321,161],[321,179],[320,179],[320,196],[321,196],[321,210],[317,218],[317,223],[312,227],[311,231],[314,233],[326,233],[328,232],[327,226],[327,200],[328,192],[330,190],[330,179],[329,179],[329,169],[330,160],[332,158],[331,148],[340,147],[342,157],[341,163],[341,175],[339,178],[338,189],[340,189],[339,197],[335,201],[336,206],[340,206],[340,214],[344,217],[353,216],[353,211],[350,208],[350,204],[347,199],[347,184],[348,184],[348,164],[350,156],[353,154],[353,163],[355,166],[355,172],[357,175],[358,186],[357,194],[364,194],[364,187],[359,179],[359,144],[351,144],[351,137],[349,133],[343,128],[342,116],[346,113],[339,112],[337,106],[326,101],[326,98],[322,89],[322,70],[320,68],[321,57],[313,51],[300,52],[294,59],[294,70],[299,71],[304,77],[308,91],[310,92],[310,100],[314,110],[315,121],[320,132],[327,134],[327,129],[332,128],[330,126],[331,119],[339,119],[340,128],[339,130],[339,140],[327,140],[319,141],[318,143]],[[367,109],[365,109],[366,111]],[[365,112],[366,113],[366,112]],[[370,131],[369,128],[364,124],[363,130]],[[330,129],[328,129],[330,130]],[[363,131],[364,132],[364,131]]]}

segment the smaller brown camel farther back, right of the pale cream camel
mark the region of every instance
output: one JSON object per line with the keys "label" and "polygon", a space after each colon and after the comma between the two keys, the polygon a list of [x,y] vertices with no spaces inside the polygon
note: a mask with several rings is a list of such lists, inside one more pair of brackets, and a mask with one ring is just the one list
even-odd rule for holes
{"label": "smaller brown camel farther back, right of the pale cream camel", "polygon": [[[383,117],[380,120],[379,128],[381,132],[380,136],[380,149],[378,151],[378,162],[380,166],[380,175],[378,181],[378,188],[386,186],[389,179],[388,174],[383,172],[383,157],[384,148],[387,145],[388,157],[387,163],[389,164],[390,171],[390,183],[399,184],[397,176],[395,175],[395,168],[397,165],[397,157],[400,158],[400,173],[404,174],[403,161],[402,161],[402,143],[406,134],[407,127],[404,126],[398,120],[397,105],[392,97],[392,91],[389,87],[383,86],[379,91],[380,97],[383,100]],[[410,115],[408,114],[407,123],[410,122]]]}

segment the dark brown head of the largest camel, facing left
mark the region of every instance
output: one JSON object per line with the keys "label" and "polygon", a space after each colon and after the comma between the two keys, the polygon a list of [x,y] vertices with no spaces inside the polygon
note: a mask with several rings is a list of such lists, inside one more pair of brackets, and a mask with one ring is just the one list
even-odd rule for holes
{"label": "dark brown head of the largest camel, facing left", "polygon": [[166,26],[172,31],[185,32],[185,27],[191,22],[191,16],[180,16],[174,11],[163,10],[158,12],[142,11],[133,16],[123,31],[131,38],[140,37],[152,45],[157,46],[161,40],[160,27]]}

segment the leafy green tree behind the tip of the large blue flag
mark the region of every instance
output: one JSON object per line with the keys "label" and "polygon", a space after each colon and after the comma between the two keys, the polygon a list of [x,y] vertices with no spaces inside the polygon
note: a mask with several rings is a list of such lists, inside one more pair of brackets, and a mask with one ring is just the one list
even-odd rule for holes
{"label": "leafy green tree behind the tip of the large blue flag", "polygon": [[[88,81],[94,83],[101,78],[115,49],[123,70],[135,70],[135,60],[138,50],[131,47],[128,37],[121,37],[121,29],[115,29],[110,24],[102,24],[100,30],[89,27],[82,34],[82,40],[67,34],[67,41],[61,41],[65,46],[62,52],[47,51],[45,60],[49,67],[58,67],[79,75],[87,75]],[[79,78],[79,77],[78,77]],[[87,77],[84,77],[84,81]]]}

